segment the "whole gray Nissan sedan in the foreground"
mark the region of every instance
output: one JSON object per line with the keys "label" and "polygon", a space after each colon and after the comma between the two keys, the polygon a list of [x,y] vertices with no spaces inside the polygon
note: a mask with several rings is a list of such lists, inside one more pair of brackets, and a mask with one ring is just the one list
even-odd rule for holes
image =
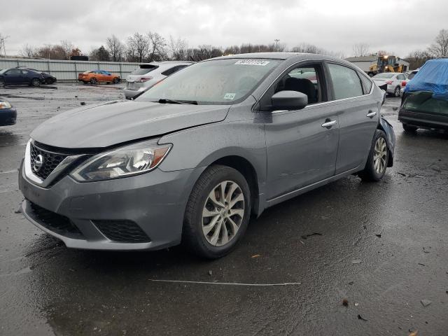
{"label": "whole gray Nissan sedan in the foreground", "polygon": [[395,146],[383,101],[363,71],[334,57],[209,59],[132,102],[38,126],[20,166],[22,211],[72,248],[182,241],[219,258],[267,207],[349,174],[379,181]]}

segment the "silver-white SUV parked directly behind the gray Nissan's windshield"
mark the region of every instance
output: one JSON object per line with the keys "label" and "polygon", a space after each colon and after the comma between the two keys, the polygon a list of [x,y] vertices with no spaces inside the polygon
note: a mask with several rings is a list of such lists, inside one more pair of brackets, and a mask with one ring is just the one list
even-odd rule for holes
{"label": "silver-white SUV parked directly behind the gray Nissan's windshield", "polygon": [[179,71],[194,62],[186,61],[165,61],[140,64],[139,69],[135,69],[126,78],[125,97],[131,99],[136,94],[147,90],[167,76]]}

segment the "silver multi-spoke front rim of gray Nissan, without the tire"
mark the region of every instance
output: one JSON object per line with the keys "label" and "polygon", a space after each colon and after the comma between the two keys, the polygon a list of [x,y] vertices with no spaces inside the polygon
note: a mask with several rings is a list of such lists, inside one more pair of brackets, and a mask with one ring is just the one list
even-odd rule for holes
{"label": "silver multi-spoke front rim of gray Nissan, without the tire", "polygon": [[209,244],[223,246],[235,238],[244,206],[244,194],[234,181],[223,181],[211,190],[202,210],[202,233]]}

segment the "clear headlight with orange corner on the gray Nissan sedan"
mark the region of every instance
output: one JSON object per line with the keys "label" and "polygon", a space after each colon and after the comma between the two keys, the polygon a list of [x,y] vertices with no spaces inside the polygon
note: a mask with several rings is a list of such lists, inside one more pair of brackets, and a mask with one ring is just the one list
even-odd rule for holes
{"label": "clear headlight with orange corner on the gray Nissan sedan", "polygon": [[159,146],[154,141],[132,144],[95,155],[70,176],[79,182],[91,182],[142,174],[155,169],[171,148],[171,144]]}

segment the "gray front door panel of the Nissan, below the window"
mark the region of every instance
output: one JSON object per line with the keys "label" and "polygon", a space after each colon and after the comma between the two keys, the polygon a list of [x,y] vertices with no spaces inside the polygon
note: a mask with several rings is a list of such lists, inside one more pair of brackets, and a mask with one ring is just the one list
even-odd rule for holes
{"label": "gray front door panel of the Nissan, below the window", "polygon": [[[272,113],[265,124],[268,200],[335,174],[339,127],[331,105]],[[322,127],[329,120],[336,125]]]}

